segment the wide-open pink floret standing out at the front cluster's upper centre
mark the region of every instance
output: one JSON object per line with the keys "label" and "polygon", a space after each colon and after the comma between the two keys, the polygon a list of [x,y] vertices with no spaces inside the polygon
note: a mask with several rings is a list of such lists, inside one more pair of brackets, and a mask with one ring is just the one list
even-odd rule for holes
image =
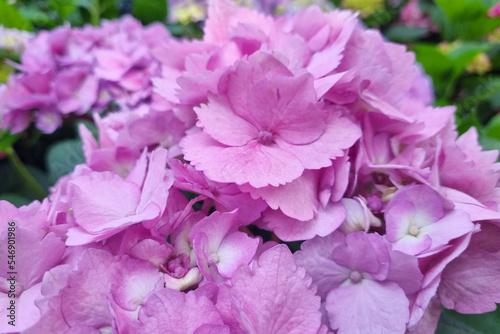
{"label": "wide-open pink floret standing out at the front cluster's upper centre", "polygon": [[[224,95],[195,109],[203,131],[181,143],[185,158],[211,180],[286,184],[305,169],[330,166],[359,136],[354,124],[327,121],[310,75],[293,76],[270,54],[238,62],[220,85]],[[341,128],[345,136],[331,144]]]}

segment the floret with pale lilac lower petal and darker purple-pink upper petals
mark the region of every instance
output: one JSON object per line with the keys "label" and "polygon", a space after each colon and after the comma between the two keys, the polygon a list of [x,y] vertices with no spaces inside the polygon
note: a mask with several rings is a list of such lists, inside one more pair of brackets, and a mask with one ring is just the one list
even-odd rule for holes
{"label": "floret with pale lilac lower petal and darker purple-pink upper petals", "polygon": [[420,289],[417,259],[393,250],[378,234],[340,232],[306,241],[295,254],[318,286],[338,333],[404,333],[406,294]]}

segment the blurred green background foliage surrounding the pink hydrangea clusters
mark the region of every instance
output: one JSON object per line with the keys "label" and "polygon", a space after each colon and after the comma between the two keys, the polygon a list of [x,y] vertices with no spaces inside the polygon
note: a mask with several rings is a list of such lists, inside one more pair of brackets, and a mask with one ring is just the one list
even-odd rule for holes
{"label": "blurred green background foliage surrounding the pink hydrangea clusters", "polygon": [[[262,1],[237,2],[255,6]],[[457,107],[460,133],[475,126],[485,149],[500,149],[500,13],[491,10],[497,1],[278,1],[275,13],[312,4],[359,11],[368,27],[415,53],[432,78],[435,104]],[[132,14],[144,24],[163,22],[175,36],[201,38],[205,8],[200,0],[0,0],[0,26],[36,33],[63,24],[98,25],[103,19]],[[10,42],[0,34],[0,83],[14,71],[5,61],[19,61],[20,50],[5,47]],[[69,119],[51,135],[34,128],[15,136],[0,133],[0,199],[16,205],[41,199],[58,178],[83,162],[76,130],[80,122],[92,128],[91,121]],[[482,315],[443,310],[437,333],[500,333],[500,310]]]}

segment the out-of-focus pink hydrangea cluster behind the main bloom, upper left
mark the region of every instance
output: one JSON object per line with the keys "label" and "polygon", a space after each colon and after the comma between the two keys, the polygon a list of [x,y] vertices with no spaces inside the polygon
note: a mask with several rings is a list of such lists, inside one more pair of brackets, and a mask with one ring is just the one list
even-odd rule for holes
{"label": "out-of-focus pink hydrangea cluster behind the main bloom, upper left", "polygon": [[101,27],[39,33],[26,43],[21,63],[12,64],[19,73],[0,92],[0,127],[17,133],[33,121],[52,133],[70,114],[148,101],[150,77],[159,70],[151,50],[169,38],[161,24],[143,27],[129,16]]}

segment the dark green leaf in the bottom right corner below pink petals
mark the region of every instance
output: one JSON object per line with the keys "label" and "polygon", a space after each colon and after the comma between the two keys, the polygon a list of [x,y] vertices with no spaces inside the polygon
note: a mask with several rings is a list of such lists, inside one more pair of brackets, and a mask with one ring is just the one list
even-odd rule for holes
{"label": "dark green leaf in the bottom right corner below pink petals", "polygon": [[436,334],[492,334],[500,329],[500,308],[483,314],[461,314],[443,309]]}

